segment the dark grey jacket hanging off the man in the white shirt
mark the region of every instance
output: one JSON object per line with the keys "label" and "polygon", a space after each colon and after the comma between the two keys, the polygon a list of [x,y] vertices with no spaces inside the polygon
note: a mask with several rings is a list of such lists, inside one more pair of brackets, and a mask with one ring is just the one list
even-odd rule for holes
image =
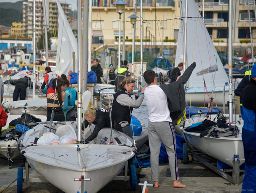
{"label": "dark grey jacket hanging off the man in the white shirt", "polygon": [[171,118],[176,124],[177,120],[181,117],[181,113],[186,106],[184,84],[188,81],[195,68],[195,62],[191,64],[183,73],[183,75],[176,81],[170,84],[161,84],[160,88],[163,89],[167,96],[168,108]]}

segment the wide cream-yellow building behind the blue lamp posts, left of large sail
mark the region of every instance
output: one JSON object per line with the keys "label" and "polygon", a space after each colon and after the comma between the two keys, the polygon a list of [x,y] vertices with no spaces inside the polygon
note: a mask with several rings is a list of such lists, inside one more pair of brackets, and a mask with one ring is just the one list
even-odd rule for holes
{"label": "wide cream-yellow building behind the blue lamp posts, left of large sail", "polygon": [[[92,43],[115,43],[119,38],[119,14],[112,5],[113,0],[93,0],[92,3]],[[121,36],[123,22],[125,22],[125,39],[132,39],[133,28],[130,23],[130,15],[135,13],[135,1],[126,0],[128,5],[121,19]],[[177,40],[180,20],[180,9],[177,0],[143,0],[143,39],[163,42]],[[99,7],[97,5],[99,3]],[[137,1],[137,16],[140,17],[140,1]],[[123,19],[124,18],[124,19]],[[174,20],[170,20],[174,19]],[[124,21],[123,21],[124,20]],[[147,34],[146,34],[147,31]],[[122,39],[122,37],[121,37]],[[137,18],[136,39],[140,39],[140,18]],[[131,42],[126,42],[129,44]],[[93,47],[93,45],[92,45]],[[147,45],[148,47],[148,45]]]}

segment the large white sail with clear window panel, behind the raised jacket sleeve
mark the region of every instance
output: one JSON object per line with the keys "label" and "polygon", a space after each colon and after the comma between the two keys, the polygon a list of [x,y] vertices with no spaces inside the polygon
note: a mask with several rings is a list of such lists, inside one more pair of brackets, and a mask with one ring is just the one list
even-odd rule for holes
{"label": "large white sail with clear window panel, behind the raised jacket sleeve", "polygon": [[[184,16],[185,2],[182,1],[182,12]],[[188,0],[187,16],[186,65],[189,66],[194,61],[196,62],[196,67],[188,80],[188,87],[203,88],[205,81],[208,89],[213,89],[213,87],[223,89],[223,86],[227,86],[228,84],[228,77],[194,0]],[[185,19],[180,22],[175,67],[180,62],[183,62],[184,57],[182,21],[185,22]]]}

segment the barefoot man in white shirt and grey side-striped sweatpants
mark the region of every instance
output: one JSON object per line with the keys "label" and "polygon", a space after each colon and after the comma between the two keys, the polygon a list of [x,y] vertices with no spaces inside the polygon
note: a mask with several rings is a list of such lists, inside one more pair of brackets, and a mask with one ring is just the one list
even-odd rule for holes
{"label": "barefoot man in white shirt and grey side-striped sweatpants", "polygon": [[159,153],[161,143],[166,147],[169,156],[169,165],[174,187],[184,188],[179,181],[178,163],[176,155],[175,131],[170,117],[170,111],[167,105],[167,96],[165,92],[157,85],[156,73],[153,70],[147,70],[143,75],[149,85],[145,91],[146,105],[148,109],[148,139],[150,147],[151,178],[154,181],[154,187],[159,184]]}

